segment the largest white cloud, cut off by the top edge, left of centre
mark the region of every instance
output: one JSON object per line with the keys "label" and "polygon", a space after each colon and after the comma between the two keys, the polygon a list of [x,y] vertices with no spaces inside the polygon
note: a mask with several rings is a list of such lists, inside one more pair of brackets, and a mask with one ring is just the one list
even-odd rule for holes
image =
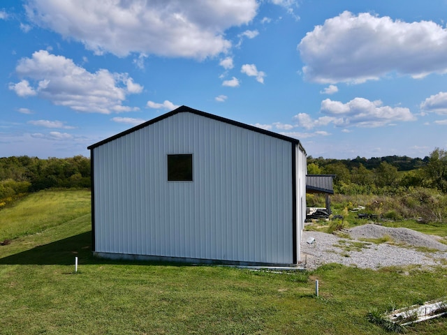
{"label": "largest white cloud, cut off by the top edge, left of centre", "polygon": [[205,59],[227,52],[230,27],[256,16],[256,0],[91,1],[29,0],[29,19],[96,54],[131,52]]}

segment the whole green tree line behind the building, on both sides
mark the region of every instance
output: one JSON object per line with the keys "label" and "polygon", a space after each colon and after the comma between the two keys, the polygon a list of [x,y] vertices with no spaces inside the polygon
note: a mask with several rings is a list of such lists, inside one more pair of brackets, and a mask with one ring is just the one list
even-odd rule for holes
{"label": "whole green tree line behind the building, on both sides", "polygon": [[[439,148],[423,159],[386,156],[337,160],[309,156],[307,172],[335,174],[335,192],[341,194],[393,194],[418,187],[447,193],[447,151]],[[90,174],[90,159],[84,156],[0,158],[0,205],[47,188],[89,188]]]}

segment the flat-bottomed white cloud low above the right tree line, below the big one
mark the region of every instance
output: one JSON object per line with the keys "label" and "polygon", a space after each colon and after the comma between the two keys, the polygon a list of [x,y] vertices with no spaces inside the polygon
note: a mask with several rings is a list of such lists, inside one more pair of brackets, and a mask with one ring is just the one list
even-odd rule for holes
{"label": "flat-bottomed white cloud low above the right tree line, below the big one", "polygon": [[369,101],[365,98],[354,98],[349,103],[325,99],[321,102],[321,113],[324,117],[312,119],[309,114],[295,115],[299,126],[312,129],[317,126],[379,127],[393,125],[397,121],[414,121],[416,117],[408,108],[382,106],[381,101]]}

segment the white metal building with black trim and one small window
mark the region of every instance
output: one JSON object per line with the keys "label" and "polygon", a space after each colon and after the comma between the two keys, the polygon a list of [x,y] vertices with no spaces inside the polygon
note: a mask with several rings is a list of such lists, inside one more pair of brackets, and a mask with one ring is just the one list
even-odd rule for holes
{"label": "white metal building with black trim and one small window", "polygon": [[95,255],[300,260],[307,172],[300,141],[182,106],[88,149]]}

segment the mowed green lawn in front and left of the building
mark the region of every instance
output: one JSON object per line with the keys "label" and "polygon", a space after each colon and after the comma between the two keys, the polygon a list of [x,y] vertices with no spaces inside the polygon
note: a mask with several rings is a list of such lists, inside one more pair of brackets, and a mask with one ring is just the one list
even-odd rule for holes
{"label": "mowed green lawn in front and left of the building", "polygon": [[[367,313],[447,296],[445,267],[270,273],[96,259],[89,197],[45,191],[1,209],[0,241],[11,242],[0,246],[0,334],[390,334]],[[446,321],[407,330],[447,334]]]}

